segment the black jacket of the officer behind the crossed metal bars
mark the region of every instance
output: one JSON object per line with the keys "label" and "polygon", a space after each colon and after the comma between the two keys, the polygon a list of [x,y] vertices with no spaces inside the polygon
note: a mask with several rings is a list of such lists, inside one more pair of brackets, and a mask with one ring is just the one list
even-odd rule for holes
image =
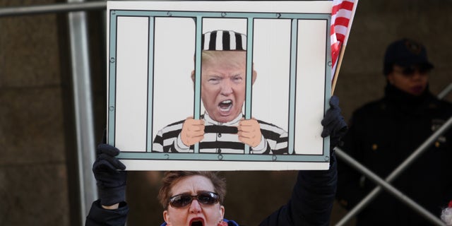
{"label": "black jacket of the officer behind the crossed metal bars", "polygon": [[[427,90],[415,97],[387,85],[381,100],[357,109],[341,148],[385,179],[452,116],[452,105]],[[449,129],[393,181],[393,186],[439,216],[452,199],[452,136]],[[338,162],[337,198],[352,208],[374,183]],[[429,225],[395,197],[381,192],[357,215],[357,225]]]}

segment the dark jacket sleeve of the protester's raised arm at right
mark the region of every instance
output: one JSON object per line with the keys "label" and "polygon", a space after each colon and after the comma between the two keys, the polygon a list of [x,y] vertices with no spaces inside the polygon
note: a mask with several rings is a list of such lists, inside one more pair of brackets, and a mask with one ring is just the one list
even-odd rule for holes
{"label": "dark jacket sleeve of the protester's raised arm at right", "polygon": [[299,171],[290,200],[260,225],[329,225],[337,180],[333,153],[330,169]]}

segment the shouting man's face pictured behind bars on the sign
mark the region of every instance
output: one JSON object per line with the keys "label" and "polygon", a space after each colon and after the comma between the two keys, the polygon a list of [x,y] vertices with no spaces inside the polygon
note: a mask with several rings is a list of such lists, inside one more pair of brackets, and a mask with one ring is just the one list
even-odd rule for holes
{"label": "shouting man's face pictured behind bars on the sign", "polygon": [[[253,71],[252,83],[256,79]],[[201,99],[209,116],[218,122],[242,114],[246,92],[246,52],[203,52]]]}

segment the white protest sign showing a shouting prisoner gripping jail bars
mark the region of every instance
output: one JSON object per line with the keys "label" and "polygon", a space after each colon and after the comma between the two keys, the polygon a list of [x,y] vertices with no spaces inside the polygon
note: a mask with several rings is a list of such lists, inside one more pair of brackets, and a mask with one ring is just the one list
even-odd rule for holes
{"label": "white protest sign showing a shouting prisoner gripping jail bars", "polygon": [[[108,1],[107,143],[129,170],[328,169],[331,7]],[[243,70],[208,77],[208,48],[240,55]],[[203,120],[200,142],[186,142],[187,118]],[[256,142],[239,138],[240,121],[258,125]]]}

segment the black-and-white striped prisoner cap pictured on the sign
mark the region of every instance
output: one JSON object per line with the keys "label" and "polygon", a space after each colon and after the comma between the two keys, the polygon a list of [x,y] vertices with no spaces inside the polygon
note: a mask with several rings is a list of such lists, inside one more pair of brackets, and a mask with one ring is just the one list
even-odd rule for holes
{"label": "black-and-white striped prisoner cap pictured on the sign", "polygon": [[206,32],[201,38],[203,50],[246,50],[246,35],[232,30]]}

